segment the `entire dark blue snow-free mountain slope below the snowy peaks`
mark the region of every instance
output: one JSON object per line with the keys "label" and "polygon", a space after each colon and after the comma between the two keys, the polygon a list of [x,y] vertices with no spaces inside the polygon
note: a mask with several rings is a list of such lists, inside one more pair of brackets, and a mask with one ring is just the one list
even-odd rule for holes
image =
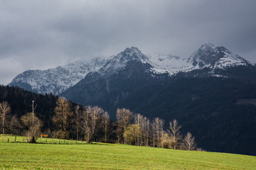
{"label": "entire dark blue snow-free mountain slope below the snowy peaks", "polygon": [[153,77],[148,68],[142,62],[128,62],[111,77],[87,75],[62,95],[83,105],[102,106],[113,120],[117,108],[151,120],[177,119],[183,130],[196,134],[203,149],[256,154],[255,67],[216,69],[216,77],[209,76],[209,69]]}

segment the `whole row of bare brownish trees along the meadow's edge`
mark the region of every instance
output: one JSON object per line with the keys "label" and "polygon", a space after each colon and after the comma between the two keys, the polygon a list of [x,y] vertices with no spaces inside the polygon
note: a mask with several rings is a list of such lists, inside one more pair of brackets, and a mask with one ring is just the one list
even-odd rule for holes
{"label": "whole row of bare brownish trees along the meadow's edge", "polygon": [[[43,121],[36,116],[34,109],[33,106],[31,113],[18,119],[10,115],[9,103],[0,103],[2,133],[6,132],[7,127],[9,130],[12,128],[13,133],[14,129],[22,129],[21,135],[26,136],[28,142],[36,142],[37,137],[42,134]],[[51,118],[55,128],[47,132],[49,137],[85,140],[87,143],[115,142],[145,147],[197,149],[195,137],[190,132],[184,137],[181,135],[181,125],[177,120],[170,121],[169,128],[165,130],[163,119],[149,120],[127,108],[117,108],[116,118],[116,122],[110,120],[107,111],[99,106],[73,106],[65,98],[58,98]]]}

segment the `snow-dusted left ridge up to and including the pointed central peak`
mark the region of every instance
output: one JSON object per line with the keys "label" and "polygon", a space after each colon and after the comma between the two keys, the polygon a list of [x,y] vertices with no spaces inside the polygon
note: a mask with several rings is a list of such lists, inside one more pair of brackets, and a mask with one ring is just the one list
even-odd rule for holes
{"label": "snow-dusted left ridge up to and including the pointed central peak", "polygon": [[124,52],[107,60],[96,58],[91,62],[74,62],[63,67],[46,70],[28,70],[18,74],[9,86],[19,86],[23,89],[34,91],[38,94],[58,95],[77,84],[89,72],[99,72],[102,75],[111,75],[124,68],[127,62],[140,60],[149,62],[146,55],[137,47],[127,47]]}

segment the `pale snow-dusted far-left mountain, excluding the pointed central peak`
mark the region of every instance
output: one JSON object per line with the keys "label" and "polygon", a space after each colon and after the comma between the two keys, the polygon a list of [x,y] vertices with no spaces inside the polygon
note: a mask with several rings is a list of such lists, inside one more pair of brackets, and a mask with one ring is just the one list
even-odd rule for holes
{"label": "pale snow-dusted far-left mountain, excluding the pointed central peak", "polygon": [[28,70],[18,74],[9,86],[19,86],[38,94],[60,94],[77,84],[89,72],[99,70],[107,60],[95,58],[90,62],[73,62],[46,70]]}

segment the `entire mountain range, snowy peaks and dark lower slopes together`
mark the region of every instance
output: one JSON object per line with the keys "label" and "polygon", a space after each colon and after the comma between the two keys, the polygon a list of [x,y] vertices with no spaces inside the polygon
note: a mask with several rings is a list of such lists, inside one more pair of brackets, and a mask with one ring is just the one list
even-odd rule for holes
{"label": "entire mountain range, snowy peaks and dark lower slopes together", "polygon": [[208,151],[256,155],[256,67],[225,47],[202,45],[187,59],[128,47],[108,59],[19,74],[9,86],[146,117],[177,119]]}

